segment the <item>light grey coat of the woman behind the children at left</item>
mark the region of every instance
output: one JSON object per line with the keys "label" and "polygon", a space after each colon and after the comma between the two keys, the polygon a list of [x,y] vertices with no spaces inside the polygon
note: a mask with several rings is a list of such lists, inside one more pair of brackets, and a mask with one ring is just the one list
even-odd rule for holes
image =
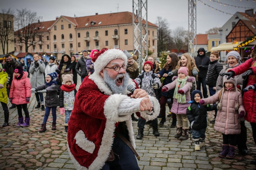
{"label": "light grey coat of the woman behind the children at left", "polygon": [[37,63],[39,66],[36,67],[35,62],[33,62],[29,68],[29,73],[31,74],[31,88],[44,85],[44,72],[46,70],[46,65],[43,61],[40,62],[39,60]]}

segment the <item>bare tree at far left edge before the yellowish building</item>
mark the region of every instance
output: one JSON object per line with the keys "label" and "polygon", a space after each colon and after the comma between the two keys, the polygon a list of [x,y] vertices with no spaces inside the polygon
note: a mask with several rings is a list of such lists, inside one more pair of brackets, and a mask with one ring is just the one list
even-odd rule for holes
{"label": "bare tree at far left edge before the yellowish building", "polygon": [[3,54],[8,53],[9,43],[14,40],[13,18],[14,12],[9,9],[2,9],[0,12],[0,43]]}

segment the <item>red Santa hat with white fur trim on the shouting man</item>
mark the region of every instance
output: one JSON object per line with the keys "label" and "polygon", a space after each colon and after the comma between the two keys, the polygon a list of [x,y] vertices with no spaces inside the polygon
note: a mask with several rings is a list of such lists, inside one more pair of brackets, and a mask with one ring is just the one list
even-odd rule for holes
{"label": "red Santa hat with white fur trim on the shouting man", "polygon": [[115,59],[122,59],[125,64],[127,63],[127,57],[121,49],[103,48],[91,59],[94,62],[93,74],[100,74],[101,70],[103,70],[111,60]]}

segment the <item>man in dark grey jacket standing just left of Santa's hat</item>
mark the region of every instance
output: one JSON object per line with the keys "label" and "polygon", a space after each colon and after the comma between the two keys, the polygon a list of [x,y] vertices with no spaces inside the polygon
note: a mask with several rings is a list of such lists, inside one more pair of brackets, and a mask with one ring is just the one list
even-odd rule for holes
{"label": "man in dark grey jacket standing just left of Santa's hat", "polygon": [[[81,76],[81,83],[83,79],[88,76],[88,72],[86,70],[86,60],[88,59],[88,51],[85,49],[82,51],[83,56],[77,61],[77,65],[75,67],[75,71],[79,76]],[[80,68],[80,70],[79,70]]]}

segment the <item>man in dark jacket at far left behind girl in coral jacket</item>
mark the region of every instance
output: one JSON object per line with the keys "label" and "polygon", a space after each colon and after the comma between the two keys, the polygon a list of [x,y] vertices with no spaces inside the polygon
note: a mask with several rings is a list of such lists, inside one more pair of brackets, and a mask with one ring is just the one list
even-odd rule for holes
{"label": "man in dark jacket at far left behind girl in coral jacket", "polygon": [[[9,96],[11,82],[13,81],[14,68],[19,66],[19,63],[16,62],[16,60],[13,59],[10,54],[6,54],[5,61],[6,61],[6,63],[3,65],[3,68],[5,69],[6,73],[8,74],[8,80],[6,82],[6,88],[7,88],[7,94]],[[16,105],[13,104],[11,107],[9,107],[9,109],[12,109],[12,108],[16,108]]]}

